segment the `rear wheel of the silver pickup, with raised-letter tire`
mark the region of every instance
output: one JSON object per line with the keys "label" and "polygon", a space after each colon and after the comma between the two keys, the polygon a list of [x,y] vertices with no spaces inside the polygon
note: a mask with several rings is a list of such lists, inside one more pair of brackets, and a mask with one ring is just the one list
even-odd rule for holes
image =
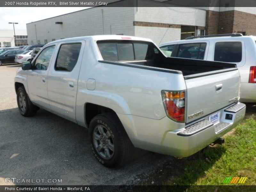
{"label": "rear wheel of the silver pickup, with raised-letter tire", "polygon": [[96,159],[106,167],[123,165],[134,148],[116,114],[95,116],[89,125],[91,149]]}

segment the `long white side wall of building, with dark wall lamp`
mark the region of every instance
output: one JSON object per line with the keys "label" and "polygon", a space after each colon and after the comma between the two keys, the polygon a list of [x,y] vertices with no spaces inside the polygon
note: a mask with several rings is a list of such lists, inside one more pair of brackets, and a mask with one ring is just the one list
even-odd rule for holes
{"label": "long white side wall of building, with dark wall lamp", "polygon": [[31,44],[31,40],[34,44],[37,40],[44,44],[44,39],[49,43],[52,39],[110,33],[134,36],[134,10],[134,7],[96,7],[28,23],[28,44]]}

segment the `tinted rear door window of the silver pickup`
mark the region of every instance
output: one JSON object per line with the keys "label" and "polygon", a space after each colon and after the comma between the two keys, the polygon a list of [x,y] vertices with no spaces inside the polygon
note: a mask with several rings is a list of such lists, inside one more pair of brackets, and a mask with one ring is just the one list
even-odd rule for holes
{"label": "tinted rear door window of the silver pickup", "polygon": [[76,66],[78,56],[81,49],[81,43],[62,44],[57,56],[55,70],[57,71],[72,71]]}

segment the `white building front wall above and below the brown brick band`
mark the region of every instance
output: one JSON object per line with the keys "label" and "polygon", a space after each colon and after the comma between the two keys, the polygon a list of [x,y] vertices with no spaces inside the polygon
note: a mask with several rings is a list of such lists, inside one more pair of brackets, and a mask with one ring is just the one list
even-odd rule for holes
{"label": "white building front wall above and below the brown brick band", "polygon": [[[138,7],[135,21],[190,26],[205,26],[206,11],[187,7]],[[152,39],[156,44],[180,40],[180,28],[135,26],[135,36]]]}

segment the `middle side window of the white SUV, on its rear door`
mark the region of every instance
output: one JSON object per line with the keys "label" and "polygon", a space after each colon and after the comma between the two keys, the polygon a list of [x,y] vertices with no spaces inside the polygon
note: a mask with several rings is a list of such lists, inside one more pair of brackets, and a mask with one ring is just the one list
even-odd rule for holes
{"label": "middle side window of the white SUV, on its rear door", "polygon": [[177,57],[189,59],[204,59],[206,43],[180,44]]}

